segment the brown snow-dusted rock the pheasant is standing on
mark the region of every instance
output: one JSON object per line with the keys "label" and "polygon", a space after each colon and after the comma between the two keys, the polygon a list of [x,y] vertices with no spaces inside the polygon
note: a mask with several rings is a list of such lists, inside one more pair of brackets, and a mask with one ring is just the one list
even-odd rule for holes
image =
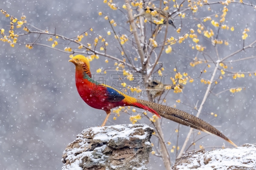
{"label": "brown snow-dusted rock the pheasant is standing on", "polygon": [[62,170],[146,170],[153,132],[146,124],[84,129],[63,152]]}

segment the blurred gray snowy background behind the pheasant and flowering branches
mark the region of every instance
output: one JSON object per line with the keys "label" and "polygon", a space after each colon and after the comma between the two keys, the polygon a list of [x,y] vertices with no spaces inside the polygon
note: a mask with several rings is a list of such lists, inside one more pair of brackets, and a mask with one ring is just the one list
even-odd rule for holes
{"label": "blurred gray snowy background behind the pheasant and flowering branches", "polygon": [[[172,2],[172,1],[170,1]],[[245,2],[245,1],[244,1]],[[117,3],[117,2],[116,2]],[[118,1],[117,5],[122,7],[124,1]],[[172,6],[172,5],[171,5]],[[84,32],[89,28],[93,28],[93,32],[88,31],[91,35],[83,39],[84,42],[92,43],[98,35],[106,36],[110,30],[108,22],[104,17],[99,16],[98,12],[102,11],[107,14],[110,19],[115,19],[119,24],[123,24],[129,29],[127,19],[120,11],[112,11],[103,1],[68,1],[68,0],[39,0],[39,1],[24,1],[24,0],[8,0],[2,1],[2,9],[9,14],[20,18],[22,13],[27,16],[27,21],[44,30],[56,32],[67,37],[76,37],[79,33]],[[212,10],[222,13],[223,5],[211,5]],[[172,8],[171,8],[172,9]],[[221,31],[220,39],[228,40],[229,46],[221,45],[219,48],[220,57],[224,57],[243,47],[242,32],[248,24],[250,32],[249,37],[245,41],[245,45],[256,40],[256,24],[255,24],[255,9],[251,6],[241,4],[230,4],[228,6],[228,14],[226,17],[227,25],[234,26],[235,31]],[[125,12],[125,11],[124,11]],[[206,17],[215,12],[207,11],[207,7],[199,10],[199,14],[193,17]],[[8,32],[10,18],[0,15],[0,28],[4,28]],[[214,16],[212,16],[214,19]],[[218,18],[219,20],[219,18]],[[179,21],[176,20],[176,26],[179,26]],[[187,23],[187,24],[186,24]],[[183,26],[188,31],[197,22],[191,19],[184,20]],[[206,24],[207,25],[207,24]],[[209,27],[214,29],[208,22]],[[121,34],[129,32],[122,27],[116,27],[116,32]],[[178,37],[176,31],[169,27],[168,36]],[[21,31],[22,32],[22,31]],[[184,33],[184,32],[183,32]],[[160,33],[160,37],[164,33]],[[112,34],[113,35],[113,34]],[[33,42],[34,35],[20,38],[19,41]],[[113,37],[112,37],[113,38]],[[109,43],[108,53],[121,58],[120,52],[116,49],[118,43],[114,39],[106,40]],[[46,39],[39,40],[42,43],[51,45]],[[216,61],[215,50],[212,48],[209,40],[200,37],[200,42],[204,42],[208,54]],[[197,54],[196,50],[192,50],[188,45],[193,43],[191,39],[184,44],[176,44],[172,49],[182,55],[194,58]],[[61,44],[60,44],[61,46]],[[63,48],[68,45],[63,45]],[[0,167],[1,169],[60,169],[63,163],[61,155],[66,145],[76,139],[76,135],[83,129],[88,127],[100,126],[105,118],[105,112],[96,110],[84,103],[77,93],[75,85],[75,66],[69,63],[69,55],[61,53],[57,50],[34,46],[29,50],[25,45],[15,44],[15,47],[10,47],[9,44],[0,42]],[[132,51],[132,50],[131,50]],[[133,54],[134,51],[132,52]],[[136,54],[135,54],[136,55]],[[161,62],[166,68],[167,79],[166,83],[171,83],[170,76],[174,77],[173,68],[176,63],[177,69],[180,72],[188,72],[193,78],[200,75],[200,70],[205,66],[198,65],[190,67],[192,61],[177,53],[169,55],[163,54]],[[254,48],[246,49],[245,51],[235,55],[230,59],[239,59],[255,55]],[[202,56],[201,56],[202,57]],[[91,72],[95,73],[98,68],[113,68],[114,62],[106,64],[105,57],[91,62]],[[255,71],[255,60],[250,59],[243,62],[228,64],[228,69],[232,71]],[[230,69],[230,67],[233,69]],[[204,74],[204,78],[210,79],[212,67]],[[171,70],[171,71],[168,71]],[[107,72],[107,75],[111,72]],[[228,74],[228,73],[226,73]],[[218,71],[218,75],[220,71]],[[106,76],[107,83],[111,84],[112,80]],[[229,91],[221,93],[219,96],[210,95],[207,99],[200,118],[220,129],[224,135],[229,137],[235,144],[242,145],[244,143],[255,144],[255,109],[256,109],[256,77],[245,75],[245,78],[237,78],[234,80],[232,76],[225,77],[213,90],[214,93],[221,92],[231,87],[243,86],[241,92],[230,93]],[[193,108],[178,104],[175,100],[180,99],[184,103],[191,105],[196,104],[199,100],[201,103],[207,85],[200,82],[200,79],[195,79],[193,83],[188,83],[183,90],[183,94],[174,94],[169,92],[167,96],[167,105],[173,106],[176,104],[179,109],[188,113],[196,114]],[[120,89],[119,89],[120,90]],[[143,99],[147,100],[146,97]],[[199,106],[198,106],[199,107]],[[210,113],[216,113],[214,117]],[[134,113],[133,113],[134,114]],[[176,145],[177,133],[173,133],[177,129],[177,123],[162,119],[165,141],[170,141],[172,145]],[[152,124],[148,119],[140,120],[141,123]],[[110,117],[107,125],[130,123],[129,115],[122,114],[113,120],[113,115]],[[180,126],[178,145],[182,146],[188,134],[189,128]],[[196,132],[197,133],[197,132]],[[200,137],[205,135],[201,134]],[[157,146],[157,139],[152,137],[152,142]],[[195,148],[199,145],[204,147],[222,146],[231,147],[224,140],[218,137],[206,136],[196,142]],[[190,148],[190,149],[193,149]],[[190,150],[189,149],[189,150]],[[211,148],[209,148],[211,149]],[[169,150],[170,151],[170,150]],[[170,153],[172,163],[176,158],[176,150]],[[148,164],[149,169],[165,169],[162,160],[156,156],[150,156]]]}

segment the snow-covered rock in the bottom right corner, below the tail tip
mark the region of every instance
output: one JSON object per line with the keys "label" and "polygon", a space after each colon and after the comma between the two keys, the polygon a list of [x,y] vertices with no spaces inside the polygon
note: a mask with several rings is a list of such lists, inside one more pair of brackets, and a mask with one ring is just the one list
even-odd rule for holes
{"label": "snow-covered rock in the bottom right corner, below the tail tip", "polygon": [[176,159],[172,169],[255,170],[256,146],[253,144],[243,144],[243,146],[237,148],[213,149],[211,151],[199,149]]}

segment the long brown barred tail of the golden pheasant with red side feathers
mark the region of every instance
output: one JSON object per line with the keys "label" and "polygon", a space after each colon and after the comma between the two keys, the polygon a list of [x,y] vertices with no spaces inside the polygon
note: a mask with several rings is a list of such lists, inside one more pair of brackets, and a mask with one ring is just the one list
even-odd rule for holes
{"label": "long brown barred tail of the golden pheasant with red side feathers", "polygon": [[148,110],[156,114],[157,116],[160,115],[166,119],[180,123],[182,125],[185,125],[197,130],[201,130],[203,132],[206,132],[212,135],[216,135],[228,141],[230,144],[236,146],[236,144],[234,144],[231,140],[229,140],[226,136],[224,136],[218,129],[214,128],[209,123],[203,121],[202,119],[194,115],[190,115],[176,108],[172,108],[169,106],[164,106],[158,103],[154,103],[146,100],[140,100],[140,99],[137,99],[136,103],[133,103],[132,106]]}

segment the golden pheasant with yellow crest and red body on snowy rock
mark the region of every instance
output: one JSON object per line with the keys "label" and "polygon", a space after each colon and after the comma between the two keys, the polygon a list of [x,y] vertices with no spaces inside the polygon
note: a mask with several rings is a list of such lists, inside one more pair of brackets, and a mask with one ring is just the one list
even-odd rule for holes
{"label": "golden pheasant with yellow crest and red body on snowy rock", "polygon": [[76,88],[81,98],[89,106],[104,110],[107,113],[101,126],[105,126],[110,115],[110,109],[119,106],[134,106],[148,110],[158,117],[162,116],[182,125],[216,135],[236,146],[218,129],[194,115],[155,102],[130,97],[108,85],[94,81],[90,72],[90,63],[83,55],[76,55],[69,62],[76,66]]}

